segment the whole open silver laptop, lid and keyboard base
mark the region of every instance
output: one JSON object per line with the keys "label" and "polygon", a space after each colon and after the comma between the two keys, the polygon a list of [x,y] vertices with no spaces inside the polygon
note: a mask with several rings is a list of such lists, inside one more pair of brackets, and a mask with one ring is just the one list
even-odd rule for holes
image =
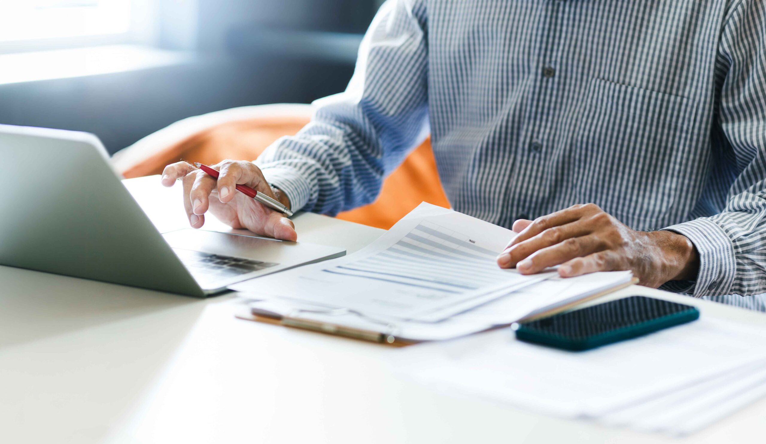
{"label": "whole open silver laptop, lid and keyboard base", "polygon": [[161,234],[92,134],[0,125],[0,159],[0,265],[204,297],[345,254],[240,232]]}

